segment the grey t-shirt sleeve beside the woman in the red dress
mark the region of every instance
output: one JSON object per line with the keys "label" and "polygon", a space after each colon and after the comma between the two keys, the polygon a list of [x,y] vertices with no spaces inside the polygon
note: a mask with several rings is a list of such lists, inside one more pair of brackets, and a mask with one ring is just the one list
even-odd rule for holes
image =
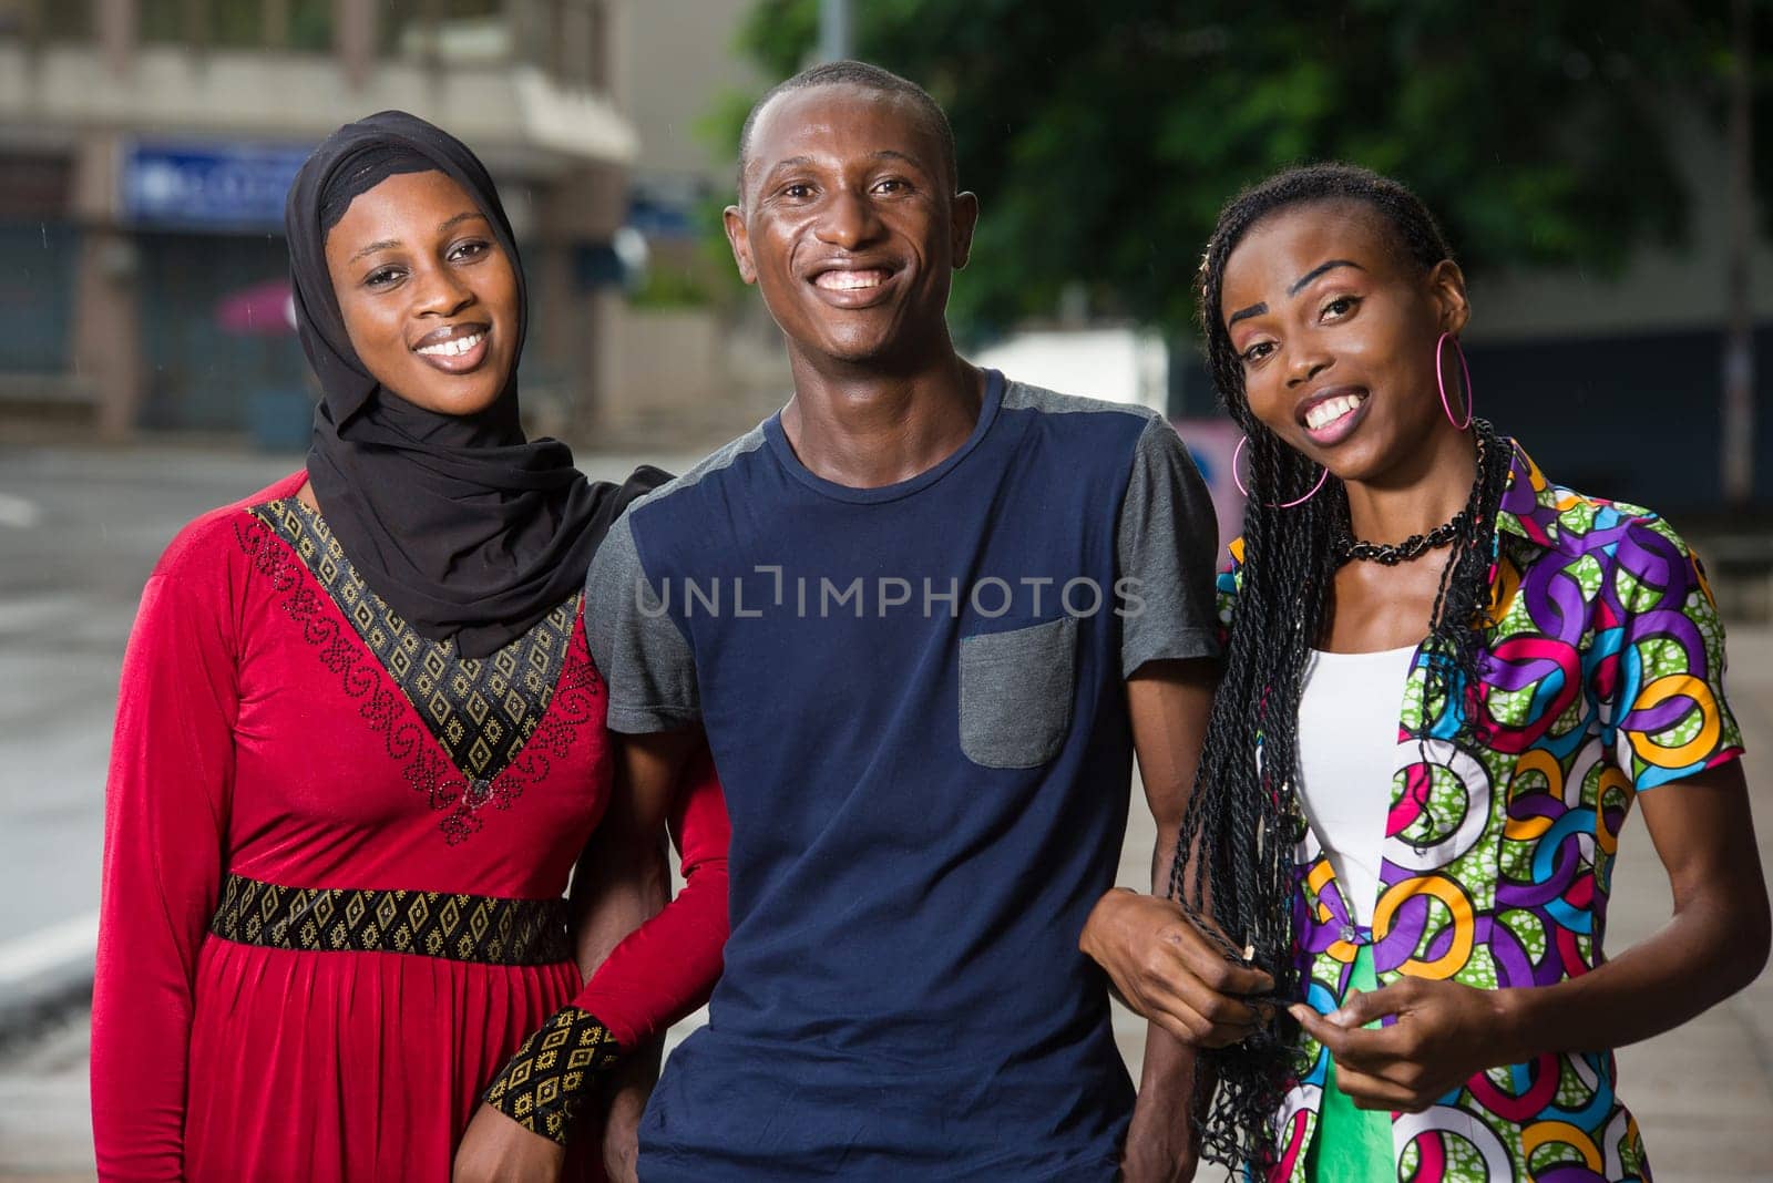
{"label": "grey t-shirt sleeve beside the woman in the red dress", "polygon": [[670,731],[700,721],[695,657],[640,563],[633,512],[610,528],[590,561],[585,639],[610,687],[612,731]]}

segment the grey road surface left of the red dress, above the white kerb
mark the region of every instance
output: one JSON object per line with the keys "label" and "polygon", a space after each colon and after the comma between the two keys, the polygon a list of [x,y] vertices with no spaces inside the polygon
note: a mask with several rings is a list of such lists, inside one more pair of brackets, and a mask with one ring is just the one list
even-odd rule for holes
{"label": "grey road surface left of the red dress, above the white kerb", "polygon": [[106,737],[147,572],[195,512],[245,496],[296,464],[53,450],[0,460],[0,866],[7,877],[0,985],[12,985],[20,958],[43,947],[46,930],[74,932],[98,907]]}

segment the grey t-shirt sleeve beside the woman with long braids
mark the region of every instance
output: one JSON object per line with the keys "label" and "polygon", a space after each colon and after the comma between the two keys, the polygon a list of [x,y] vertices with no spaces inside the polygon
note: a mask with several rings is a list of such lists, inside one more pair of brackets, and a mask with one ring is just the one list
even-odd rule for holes
{"label": "grey t-shirt sleeve beside the woman with long braids", "polygon": [[1133,450],[1115,540],[1122,613],[1121,677],[1147,661],[1216,657],[1213,560],[1218,519],[1175,429],[1152,418]]}

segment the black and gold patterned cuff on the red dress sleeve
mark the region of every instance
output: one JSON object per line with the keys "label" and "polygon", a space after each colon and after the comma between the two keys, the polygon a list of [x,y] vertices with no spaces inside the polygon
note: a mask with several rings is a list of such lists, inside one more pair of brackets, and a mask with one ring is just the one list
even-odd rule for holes
{"label": "black and gold patterned cuff on the red dress sleeve", "polygon": [[566,1006],[511,1057],[486,1103],[525,1130],[566,1144],[573,1117],[622,1048],[590,1011]]}

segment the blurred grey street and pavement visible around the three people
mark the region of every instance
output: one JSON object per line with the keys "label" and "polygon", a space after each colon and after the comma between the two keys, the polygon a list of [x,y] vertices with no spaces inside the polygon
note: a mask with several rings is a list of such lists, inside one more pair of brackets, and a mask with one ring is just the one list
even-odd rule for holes
{"label": "blurred grey street and pavement visible around the three people", "polygon": [[[592,476],[640,459],[681,471],[691,457],[585,457]],[[21,997],[60,999],[34,1034],[0,1045],[0,1183],[92,1178],[87,1013],[96,926],[105,758],[117,668],[140,584],[191,515],[243,498],[298,457],[195,450],[0,453],[0,1015]],[[1773,629],[1730,638],[1732,703],[1752,769],[1773,751]],[[1762,857],[1773,854],[1773,781],[1757,785]],[[1121,882],[1145,885],[1151,820],[1135,792]],[[1668,914],[1638,823],[1621,843],[1608,946]],[[1136,1075],[1144,1024],[1117,1013]],[[1773,1179],[1773,978],[1688,1027],[1621,1052],[1661,1183]],[[1202,1178],[1209,1178],[1202,1172]]]}

